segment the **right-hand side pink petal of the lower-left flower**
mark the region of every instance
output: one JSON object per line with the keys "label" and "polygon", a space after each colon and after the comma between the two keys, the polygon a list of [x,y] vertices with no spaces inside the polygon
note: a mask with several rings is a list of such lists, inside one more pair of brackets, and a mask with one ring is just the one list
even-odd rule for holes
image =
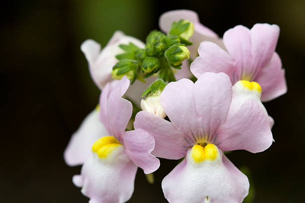
{"label": "right-hand side pink petal of the lower-left flower", "polygon": [[159,168],[160,161],[151,154],[154,149],[154,138],[150,133],[139,128],[126,131],[122,138],[126,154],[144,170],[144,173],[150,174]]}

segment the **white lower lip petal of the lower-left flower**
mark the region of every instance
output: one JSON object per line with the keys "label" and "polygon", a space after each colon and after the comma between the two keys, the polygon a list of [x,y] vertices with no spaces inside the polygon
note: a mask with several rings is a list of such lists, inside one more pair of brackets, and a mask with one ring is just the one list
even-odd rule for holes
{"label": "white lower lip petal of the lower-left flower", "polygon": [[137,169],[120,145],[109,158],[99,158],[93,153],[73,182],[82,187],[81,192],[90,198],[90,203],[124,203],[134,192]]}

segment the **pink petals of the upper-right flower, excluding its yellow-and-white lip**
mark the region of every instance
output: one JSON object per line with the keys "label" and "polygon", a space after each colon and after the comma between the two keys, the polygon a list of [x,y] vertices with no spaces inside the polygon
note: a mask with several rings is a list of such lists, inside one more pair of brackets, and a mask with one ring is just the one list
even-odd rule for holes
{"label": "pink petals of the upper-right flower, excluding its yellow-and-white lip", "polygon": [[226,50],[212,42],[202,42],[199,57],[191,64],[198,78],[205,72],[224,72],[234,85],[239,80],[255,81],[262,87],[261,100],[273,100],[287,92],[285,71],[275,52],[278,25],[255,24],[251,30],[242,25],[224,33]]}

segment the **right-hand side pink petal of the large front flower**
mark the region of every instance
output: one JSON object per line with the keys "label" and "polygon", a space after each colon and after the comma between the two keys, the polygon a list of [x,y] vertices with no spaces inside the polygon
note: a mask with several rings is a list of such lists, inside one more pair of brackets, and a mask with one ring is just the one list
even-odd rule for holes
{"label": "right-hand side pink petal of the large front flower", "polygon": [[215,144],[223,151],[268,149],[273,141],[267,116],[257,101],[249,99],[220,126]]}

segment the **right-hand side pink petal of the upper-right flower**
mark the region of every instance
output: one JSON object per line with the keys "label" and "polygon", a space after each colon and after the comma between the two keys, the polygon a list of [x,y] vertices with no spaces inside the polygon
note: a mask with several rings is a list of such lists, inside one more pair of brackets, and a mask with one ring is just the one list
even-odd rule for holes
{"label": "right-hand side pink petal of the upper-right flower", "polygon": [[281,59],[276,52],[255,80],[262,87],[263,102],[273,100],[287,92],[285,70],[282,69]]}

